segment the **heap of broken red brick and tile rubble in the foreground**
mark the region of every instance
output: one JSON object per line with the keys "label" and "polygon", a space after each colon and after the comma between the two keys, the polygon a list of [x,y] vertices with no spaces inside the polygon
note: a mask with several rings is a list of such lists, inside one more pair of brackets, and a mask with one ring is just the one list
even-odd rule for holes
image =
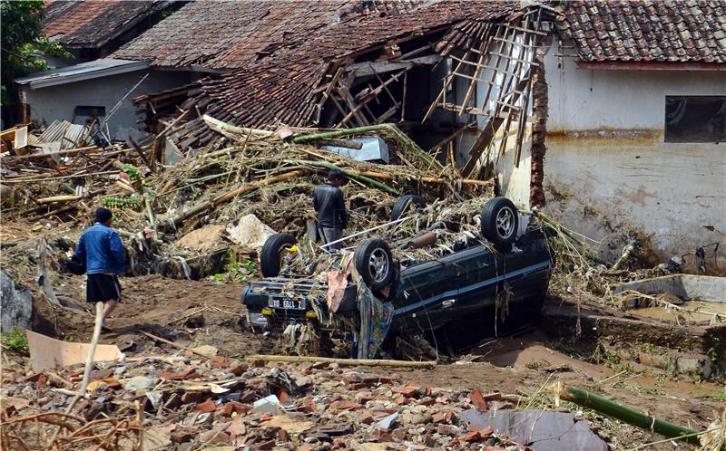
{"label": "heap of broken red brick and tile rubble in the foreground", "polygon": [[[198,359],[150,354],[98,362],[88,397],[67,414],[61,412],[82,368],[6,372],[3,447],[529,449],[479,415],[514,414],[531,404],[522,395],[428,387],[395,372],[381,376],[335,362]],[[582,423],[568,416],[570,424]],[[578,433],[584,432],[606,449],[589,427]]]}

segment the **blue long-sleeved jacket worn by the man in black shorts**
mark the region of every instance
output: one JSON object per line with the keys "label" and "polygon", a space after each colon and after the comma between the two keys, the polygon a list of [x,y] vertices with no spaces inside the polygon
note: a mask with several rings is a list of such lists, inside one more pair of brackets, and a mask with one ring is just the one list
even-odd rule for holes
{"label": "blue long-sleeved jacket worn by the man in black shorts", "polygon": [[113,228],[96,223],[83,231],[75,248],[78,261],[85,264],[86,273],[126,272],[121,238]]}

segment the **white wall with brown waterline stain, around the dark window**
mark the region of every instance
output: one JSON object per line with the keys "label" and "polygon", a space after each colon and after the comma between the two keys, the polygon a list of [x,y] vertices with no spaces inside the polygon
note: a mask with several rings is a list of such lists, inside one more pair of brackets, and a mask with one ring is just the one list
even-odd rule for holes
{"label": "white wall with brown waterline stain, around the dark window", "polygon": [[726,72],[583,70],[556,52],[544,66],[547,210],[610,257],[629,233],[653,261],[721,243],[720,267],[713,247],[707,261],[726,272],[726,143],[663,140],[665,96],[726,95]]}

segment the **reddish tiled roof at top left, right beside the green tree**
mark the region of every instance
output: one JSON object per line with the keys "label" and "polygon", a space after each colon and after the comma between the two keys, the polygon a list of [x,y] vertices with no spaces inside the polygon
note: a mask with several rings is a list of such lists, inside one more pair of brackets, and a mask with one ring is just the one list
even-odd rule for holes
{"label": "reddish tiled roof at top left, right beside the green tree", "polygon": [[168,1],[55,0],[45,6],[43,32],[70,48],[99,48]]}

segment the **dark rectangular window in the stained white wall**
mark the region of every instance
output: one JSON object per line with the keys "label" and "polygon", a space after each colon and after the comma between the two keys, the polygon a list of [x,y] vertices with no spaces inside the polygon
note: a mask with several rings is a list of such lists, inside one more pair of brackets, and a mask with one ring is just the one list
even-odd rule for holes
{"label": "dark rectangular window in the stained white wall", "polygon": [[726,141],[726,96],[666,96],[665,142]]}

